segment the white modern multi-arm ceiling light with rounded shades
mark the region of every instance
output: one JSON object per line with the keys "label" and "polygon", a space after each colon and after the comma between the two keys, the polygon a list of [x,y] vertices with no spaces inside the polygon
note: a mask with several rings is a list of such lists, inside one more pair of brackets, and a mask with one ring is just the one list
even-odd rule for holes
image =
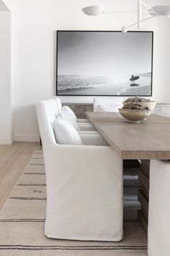
{"label": "white modern multi-arm ceiling light with rounded shades", "polygon": [[[143,7],[148,7],[148,10],[143,10]],[[122,27],[122,32],[126,33],[130,27],[134,27],[135,25],[138,26],[138,29],[141,27],[141,22],[145,20],[150,20],[153,17],[159,17],[159,16],[164,16],[164,17],[170,17],[170,6],[166,5],[158,5],[151,7],[148,4],[146,4],[144,1],[138,0],[138,10],[135,12],[105,12],[105,7],[104,6],[99,6],[99,5],[94,5],[90,7],[84,7],[81,9],[84,14],[89,15],[89,16],[96,16],[99,14],[115,14],[115,13],[137,13],[137,22],[129,25],[129,26],[123,26]],[[150,17],[147,17],[146,19],[142,18],[142,14],[150,14]]]}

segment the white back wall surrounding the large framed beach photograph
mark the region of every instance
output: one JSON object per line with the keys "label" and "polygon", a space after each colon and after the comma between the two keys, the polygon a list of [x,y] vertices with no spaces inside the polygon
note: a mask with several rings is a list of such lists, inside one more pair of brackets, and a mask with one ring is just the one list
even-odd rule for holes
{"label": "white back wall surrounding the large framed beach photograph", "polygon": [[[10,2],[10,0],[4,0]],[[148,4],[169,4],[152,0]],[[37,140],[35,103],[55,95],[55,30],[120,30],[135,22],[135,14],[88,17],[81,8],[104,4],[108,10],[136,10],[136,0],[13,0],[12,97],[15,140]],[[170,102],[170,19],[159,17],[143,24],[154,31],[153,98]],[[62,97],[68,102],[92,102],[91,97]]]}

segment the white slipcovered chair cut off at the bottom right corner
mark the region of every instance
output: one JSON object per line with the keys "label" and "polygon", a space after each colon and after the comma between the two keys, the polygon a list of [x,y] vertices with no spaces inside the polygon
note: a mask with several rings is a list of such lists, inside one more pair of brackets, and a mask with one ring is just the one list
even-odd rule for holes
{"label": "white slipcovered chair cut off at the bottom right corner", "polygon": [[170,162],[151,160],[148,256],[170,255]]}

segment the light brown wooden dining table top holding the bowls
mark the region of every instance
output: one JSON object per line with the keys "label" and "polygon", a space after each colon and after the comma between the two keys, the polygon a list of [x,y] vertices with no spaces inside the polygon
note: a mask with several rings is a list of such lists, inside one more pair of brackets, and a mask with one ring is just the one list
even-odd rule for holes
{"label": "light brown wooden dining table top holding the bowls", "polygon": [[170,159],[169,118],[151,115],[134,124],[114,112],[86,117],[122,159]]}

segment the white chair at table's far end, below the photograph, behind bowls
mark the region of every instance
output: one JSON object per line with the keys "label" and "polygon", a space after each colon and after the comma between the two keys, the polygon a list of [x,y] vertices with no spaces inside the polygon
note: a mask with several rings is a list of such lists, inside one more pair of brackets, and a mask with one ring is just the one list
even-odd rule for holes
{"label": "white chair at table's far end, below the photograph, behind bowls", "polygon": [[94,98],[94,112],[107,111],[118,112],[118,108],[122,108],[122,97],[114,98]]}

